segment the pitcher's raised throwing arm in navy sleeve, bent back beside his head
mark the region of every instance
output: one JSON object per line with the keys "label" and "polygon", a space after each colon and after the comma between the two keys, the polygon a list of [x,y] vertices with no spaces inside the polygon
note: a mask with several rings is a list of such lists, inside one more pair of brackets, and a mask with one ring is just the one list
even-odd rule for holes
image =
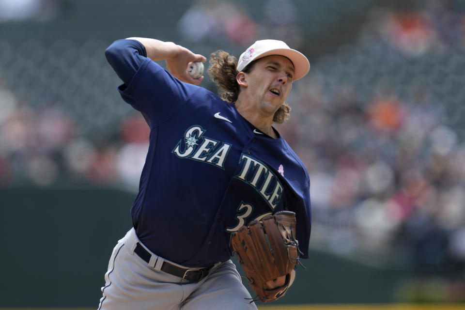
{"label": "pitcher's raised throwing arm in navy sleeve, bent back beside his head", "polygon": [[[188,76],[187,63],[204,59],[202,55],[173,43],[136,39],[113,42],[105,50],[105,56],[124,82],[118,87],[124,101],[142,112],[151,127],[156,127],[176,114],[192,94],[201,89],[180,80],[182,75],[187,82],[192,80],[191,84],[198,84],[200,79],[194,80]],[[162,59],[167,60],[167,67],[173,73],[155,62]]]}

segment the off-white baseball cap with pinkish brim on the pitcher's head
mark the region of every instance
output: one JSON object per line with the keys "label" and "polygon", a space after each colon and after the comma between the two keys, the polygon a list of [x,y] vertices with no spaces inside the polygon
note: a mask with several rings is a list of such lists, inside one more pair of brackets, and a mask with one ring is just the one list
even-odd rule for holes
{"label": "off-white baseball cap with pinkish brim on the pitcher's head", "polygon": [[237,71],[244,70],[254,60],[270,55],[281,55],[291,60],[294,64],[294,81],[305,77],[310,70],[310,62],[307,57],[288,47],[286,43],[279,40],[259,40],[242,53],[237,62]]}

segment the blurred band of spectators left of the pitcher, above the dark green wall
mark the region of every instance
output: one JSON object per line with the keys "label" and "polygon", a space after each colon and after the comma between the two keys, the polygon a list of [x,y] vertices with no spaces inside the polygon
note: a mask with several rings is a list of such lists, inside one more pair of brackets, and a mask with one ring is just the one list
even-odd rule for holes
{"label": "blurred band of spectators left of the pitcher, above the dark green wall", "polygon": [[4,85],[0,110],[1,186],[91,183],[137,189],[149,135],[140,114],[120,120],[114,137],[98,138],[96,132],[93,139],[82,135],[81,124],[62,106],[25,105]]}

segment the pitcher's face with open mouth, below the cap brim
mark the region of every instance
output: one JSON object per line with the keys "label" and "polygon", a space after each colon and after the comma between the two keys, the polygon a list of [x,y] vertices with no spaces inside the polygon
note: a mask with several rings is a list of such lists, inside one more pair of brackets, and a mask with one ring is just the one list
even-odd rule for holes
{"label": "pitcher's face with open mouth, below the cap brim", "polygon": [[259,59],[246,75],[253,102],[274,114],[291,91],[294,65],[284,56],[266,56]]}

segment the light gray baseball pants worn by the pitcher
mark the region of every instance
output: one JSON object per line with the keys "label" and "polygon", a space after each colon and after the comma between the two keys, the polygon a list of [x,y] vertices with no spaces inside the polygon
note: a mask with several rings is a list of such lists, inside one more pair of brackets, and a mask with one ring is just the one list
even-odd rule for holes
{"label": "light gray baseball pants worn by the pitcher", "polygon": [[113,249],[105,274],[99,310],[248,310],[257,309],[230,260],[218,263],[196,283],[160,271],[164,259],[152,253],[149,263],[134,249],[140,243],[131,229]]}

